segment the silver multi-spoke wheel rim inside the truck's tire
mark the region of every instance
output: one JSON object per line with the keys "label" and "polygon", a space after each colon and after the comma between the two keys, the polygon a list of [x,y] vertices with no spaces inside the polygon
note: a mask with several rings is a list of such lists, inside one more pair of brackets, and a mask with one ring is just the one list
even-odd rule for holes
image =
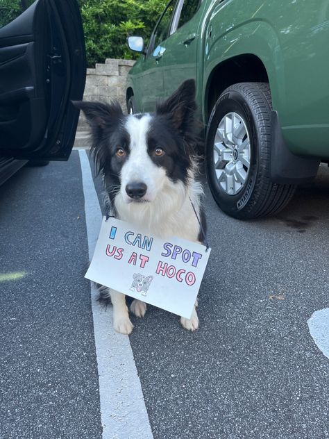
{"label": "silver multi-spoke wheel rim inside the truck's tire", "polygon": [[227,113],[214,137],[214,172],[223,192],[236,195],[244,188],[250,160],[250,138],[244,119],[237,113]]}

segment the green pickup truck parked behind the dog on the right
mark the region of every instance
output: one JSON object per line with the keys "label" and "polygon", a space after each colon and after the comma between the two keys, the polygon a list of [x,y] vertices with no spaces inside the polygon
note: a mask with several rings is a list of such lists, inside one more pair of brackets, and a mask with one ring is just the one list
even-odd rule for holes
{"label": "green pickup truck parked behind the dog on the right", "polygon": [[196,81],[208,183],[228,215],[277,213],[329,160],[329,0],[172,0],[126,88],[151,112]]}

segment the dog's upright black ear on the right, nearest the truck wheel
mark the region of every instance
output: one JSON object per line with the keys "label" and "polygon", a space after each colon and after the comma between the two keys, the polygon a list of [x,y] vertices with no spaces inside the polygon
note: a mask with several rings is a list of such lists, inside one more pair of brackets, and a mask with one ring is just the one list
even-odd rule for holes
{"label": "dog's upright black ear on the right, nearest the truck wheel", "polygon": [[155,113],[169,116],[171,124],[185,133],[194,119],[195,110],[195,81],[187,79],[166,101],[158,103]]}

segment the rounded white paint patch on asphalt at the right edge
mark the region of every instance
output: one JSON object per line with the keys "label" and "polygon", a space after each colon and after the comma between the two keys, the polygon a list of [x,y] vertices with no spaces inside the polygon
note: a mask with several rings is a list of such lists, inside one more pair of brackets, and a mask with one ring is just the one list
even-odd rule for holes
{"label": "rounded white paint patch on asphalt at the right edge", "polygon": [[315,311],[307,324],[315,344],[329,358],[329,308]]}

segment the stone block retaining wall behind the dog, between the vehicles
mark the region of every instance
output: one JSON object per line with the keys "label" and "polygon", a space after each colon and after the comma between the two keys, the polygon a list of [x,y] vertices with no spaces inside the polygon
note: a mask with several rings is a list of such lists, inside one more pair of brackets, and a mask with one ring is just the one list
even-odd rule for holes
{"label": "stone block retaining wall behind the dog, between the vehicles", "polygon": [[[133,60],[115,60],[108,58],[105,64],[96,64],[87,69],[84,101],[110,101],[117,99],[126,111],[126,76],[135,64]],[[88,125],[81,113],[74,147],[88,147]]]}

